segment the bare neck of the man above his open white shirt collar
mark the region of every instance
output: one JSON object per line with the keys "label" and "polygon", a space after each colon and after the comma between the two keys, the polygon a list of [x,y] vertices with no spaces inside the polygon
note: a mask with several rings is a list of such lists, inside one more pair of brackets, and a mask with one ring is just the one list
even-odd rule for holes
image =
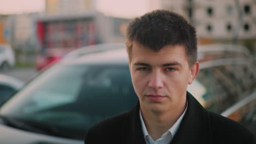
{"label": "bare neck of the man above his open white shirt collar", "polygon": [[155,113],[144,106],[141,106],[141,112],[148,134],[153,140],[159,139],[173,124],[181,117],[186,107],[186,101],[175,105],[173,109]]}

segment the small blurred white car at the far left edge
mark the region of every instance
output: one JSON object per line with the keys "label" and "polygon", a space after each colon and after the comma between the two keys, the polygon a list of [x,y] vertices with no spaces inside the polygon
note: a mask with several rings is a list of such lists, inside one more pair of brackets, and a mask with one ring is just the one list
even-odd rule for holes
{"label": "small blurred white car at the far left edge", "polygon": [[0,45],[0,69],[5,71],[15,65],[14,51],[9,45]]}

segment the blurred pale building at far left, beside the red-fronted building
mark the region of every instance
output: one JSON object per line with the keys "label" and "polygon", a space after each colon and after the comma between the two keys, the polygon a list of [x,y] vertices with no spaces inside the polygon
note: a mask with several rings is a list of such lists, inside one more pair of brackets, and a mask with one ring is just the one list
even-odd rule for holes
{"label": "blurred pale building at far left, beside the red-fronted building", "polygon": [[8,15],[5,21],[5,39],[15,50],[16,60],[21,63],[33,63],[34,53],[38,49],[35,20],[39,13]]}

